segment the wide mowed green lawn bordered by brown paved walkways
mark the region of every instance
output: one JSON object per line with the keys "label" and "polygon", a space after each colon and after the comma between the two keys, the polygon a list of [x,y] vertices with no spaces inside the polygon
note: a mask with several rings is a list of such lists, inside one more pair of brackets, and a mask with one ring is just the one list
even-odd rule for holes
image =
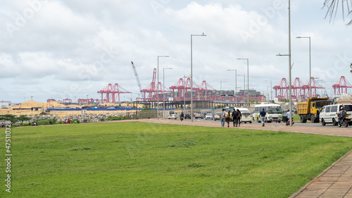
{"label": "wide mowed green lawn bordered by brown paved walkways", "polygon": [[3,162],[0,197],[289,197],[352,149],[346,137],[151,123],[13,128],[11,138],[12,193]]}

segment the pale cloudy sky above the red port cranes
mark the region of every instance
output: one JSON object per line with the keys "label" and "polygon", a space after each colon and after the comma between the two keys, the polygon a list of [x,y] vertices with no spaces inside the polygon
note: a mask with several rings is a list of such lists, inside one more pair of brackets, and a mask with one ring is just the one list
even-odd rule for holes
{"label": "pale cloudy sky above the red port cranes", "polygon": [[[118,83],[138,97],[134,62],[142,88],[158,67],[159,81],[170,87],[191,73],[215,89],[244,88],[249,58],[249,88],[265,94],[289,80],[289,12],[282,0],[16,0],[0,5],[0,101],[101,99],[97,92]],[[352,25],[341,10],[325,18],[323,0],[291,1],[291,70],[326,87],[341,76],[352,82]],[[165,70],[163,78],[163,68]],[[237,70],[237,79],[234,71]],[[269,81],[268,81],[269,80]],[[226,81],[226,82],[221,82]],[[246,85],[247,86],[247,85]],[[274,90],[272,90],[274,92]],[[275,97],[275,93],[273,93]]]}

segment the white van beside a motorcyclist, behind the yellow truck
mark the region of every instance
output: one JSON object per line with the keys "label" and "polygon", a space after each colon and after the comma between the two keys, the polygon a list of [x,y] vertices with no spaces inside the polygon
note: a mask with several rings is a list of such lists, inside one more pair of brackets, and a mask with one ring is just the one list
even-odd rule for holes
{"label": "white van beside a motorcyclist, behind the yellow truck", "polygon": [[339,121],[337,113],[341,111],[342,106],[344,106],[344,109],[347,113],[346,120],[348,120],[348,124],[351,124],[352,104],[331,104],[323,106],[322,111],[320,111],[319,119],[322,125],[326,125],[328,123],[337,125],[337,122]]}

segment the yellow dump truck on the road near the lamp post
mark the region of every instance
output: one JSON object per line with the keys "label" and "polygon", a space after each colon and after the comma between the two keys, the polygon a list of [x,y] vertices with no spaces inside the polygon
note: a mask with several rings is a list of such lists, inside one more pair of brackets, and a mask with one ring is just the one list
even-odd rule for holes
{"label": "yellow dump truck on the road near the lamp post", "polygon": [[319,113],[322,107],[325,105],[332,104],[329,98],[309,98],[307,101],[301,101],[297,103],[297,113],[301,120],[301,123],[306,123],[310,120],[312,123],[319,123]]}

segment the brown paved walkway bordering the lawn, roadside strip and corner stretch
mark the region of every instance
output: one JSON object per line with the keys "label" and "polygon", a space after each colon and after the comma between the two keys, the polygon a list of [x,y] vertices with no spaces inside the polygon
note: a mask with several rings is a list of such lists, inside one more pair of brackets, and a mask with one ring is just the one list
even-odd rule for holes
{"label": "brown paved walkway bordering the lawn, roadside strip and corner stretch", "polygon": [[[139,120],[145,123],[163,123],[170,125],[195,125],[205,127],[220,127],[220,123],[204,122],[181,122],[180,120]],[[230,127],[233,128],[233,127]],[[244,124],[241,129],[251,130],[271,130],[297,132],[314,135],[336,135],[342,137],[352,137],[352,128],[318,128],[318,127],[301,127],[286,125],[261,125]],[[224,128],[227,129],[227,128]],[[323,129],[323,130],[322,130]],[[289,198],[352,198],[352,151],[341,159],[322,171],[317,178],[308,182],[300,190],[292,194]]]}

